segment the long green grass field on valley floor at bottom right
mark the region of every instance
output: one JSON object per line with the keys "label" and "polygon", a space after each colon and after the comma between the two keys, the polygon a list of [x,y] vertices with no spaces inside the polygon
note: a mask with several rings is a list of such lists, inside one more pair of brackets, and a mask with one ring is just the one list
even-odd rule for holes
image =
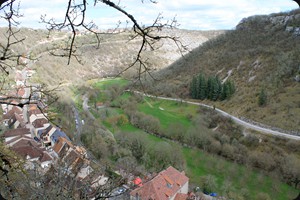
{"label": "long green grass field on valley floor at bottom right", "polygon": [[200,177],[210,174],[217,179],[217,192],[220,192],[228,184],[234,192],[243,191],[247,193],[245,199],[257,199],[257,194],[266,193],[272,200],[287,200],[295,198],[299,192],[258,171],[212,156],[198,149],[182,148],[182,152],[186,159],[186,173],[194,185],[200,185]]}

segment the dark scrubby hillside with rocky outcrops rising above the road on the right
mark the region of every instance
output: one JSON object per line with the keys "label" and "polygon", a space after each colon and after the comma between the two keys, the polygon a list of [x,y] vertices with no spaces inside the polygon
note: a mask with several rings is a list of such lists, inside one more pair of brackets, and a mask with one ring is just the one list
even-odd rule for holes
{"label": "dark scrubby hillside with rocky outcrops rising above the road on the right", "polygon": [[[236,94],[228,101],[209,102],[253,121],[300,131],[300,10],[243,19],[155,74],[155,94],[189,97],[189,83],[203,72],[234,80]],[[297,82],[298,81],[298,82]],[[148,82],[149,83],[149,82]],[[264,89],[267,105],[259,107]]]}

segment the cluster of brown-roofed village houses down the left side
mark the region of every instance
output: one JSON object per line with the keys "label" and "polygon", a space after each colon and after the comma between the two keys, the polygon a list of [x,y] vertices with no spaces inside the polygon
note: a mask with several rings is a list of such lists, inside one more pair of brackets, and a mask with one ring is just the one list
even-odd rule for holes
{"label": "cluster of brown-roofed village houses down the left side", "polygon": [[46,173],[51,166],[60,165],[78,180],[91,180],[95,186],[98,182],[105,184],[107,177],[92,173],[86,149],[74,145],[41,110],[46,104],[41,100],[40,88],[27,82],[32,74],[29,68],[16,71],[13,90],[1,96],[2,123],[6,127],[1,135],[4,144],[23,158],[26,169]]}

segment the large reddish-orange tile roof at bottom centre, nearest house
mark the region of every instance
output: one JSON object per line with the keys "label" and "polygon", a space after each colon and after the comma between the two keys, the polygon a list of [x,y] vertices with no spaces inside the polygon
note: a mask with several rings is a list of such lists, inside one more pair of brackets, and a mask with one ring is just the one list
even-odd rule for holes
{"label": "large reddish-orange tile roof at bottom centre, nearest house", "polygon": [[141,199],[147,200],[167,200],[169,197],[173,197],[188,180],[184,172],[169,167],[152,180],[144,183],[142,187],[131,191],[130,195],[135,197],[138,194]]}

